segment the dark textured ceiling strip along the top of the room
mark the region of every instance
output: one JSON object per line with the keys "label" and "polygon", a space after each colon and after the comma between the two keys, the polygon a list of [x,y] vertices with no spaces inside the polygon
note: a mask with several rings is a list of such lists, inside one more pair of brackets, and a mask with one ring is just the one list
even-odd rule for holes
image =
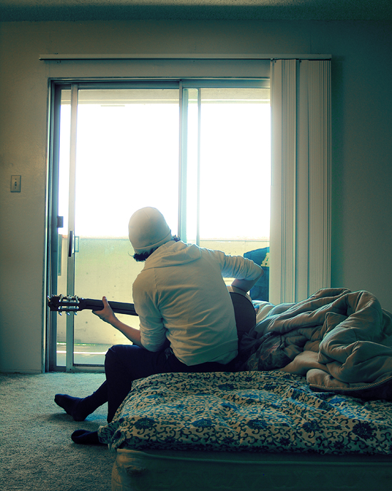
{"label": "dark textured ceiling strip along the top of the room", "polygon": [[392,20],[392,0],[0,0],[0,21]]}

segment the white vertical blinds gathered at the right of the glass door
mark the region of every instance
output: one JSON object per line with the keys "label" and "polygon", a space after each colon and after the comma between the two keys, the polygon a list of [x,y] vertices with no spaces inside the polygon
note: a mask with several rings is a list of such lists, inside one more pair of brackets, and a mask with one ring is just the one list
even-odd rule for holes
{"label": "white vertical blinds gathered at the right of the glass door", "polygon": [[331,285],[331,61],[271,62],[272,303]]}

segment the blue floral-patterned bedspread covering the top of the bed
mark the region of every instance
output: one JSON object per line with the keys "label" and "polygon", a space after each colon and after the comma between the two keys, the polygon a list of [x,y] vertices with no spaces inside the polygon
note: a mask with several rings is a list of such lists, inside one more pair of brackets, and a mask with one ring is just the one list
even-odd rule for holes
{"label": "blue floral-patterned bedspread covering the top of the bed", "polygon": [[280,371],[137,380],[100,441],[164,450],[391,454],[392,403],[314,393]]}

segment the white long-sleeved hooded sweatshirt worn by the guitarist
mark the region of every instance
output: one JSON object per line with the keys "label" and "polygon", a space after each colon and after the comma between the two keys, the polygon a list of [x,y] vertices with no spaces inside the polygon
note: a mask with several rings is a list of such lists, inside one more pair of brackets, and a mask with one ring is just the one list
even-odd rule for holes
{"label": "white long-sleeved hooded sweatshirt worn by the guitarist", "polygon": [[165,243],[133,283],[141,343],[157,351],[167,339],[185,365],[229,363],[237,355],[238,338],[223,277],[254,280],[260,272],[259,265],[242,256],[181,241]]}

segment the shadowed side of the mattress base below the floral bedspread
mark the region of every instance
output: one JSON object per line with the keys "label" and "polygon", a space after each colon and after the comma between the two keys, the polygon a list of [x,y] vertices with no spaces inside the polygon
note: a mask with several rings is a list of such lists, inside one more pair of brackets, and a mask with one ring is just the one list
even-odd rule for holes
{"label": "shadowed side of the mattress base below the floral bedspread", "polygon": [[118,449],[112,491],[390,491],[388,455]]}

